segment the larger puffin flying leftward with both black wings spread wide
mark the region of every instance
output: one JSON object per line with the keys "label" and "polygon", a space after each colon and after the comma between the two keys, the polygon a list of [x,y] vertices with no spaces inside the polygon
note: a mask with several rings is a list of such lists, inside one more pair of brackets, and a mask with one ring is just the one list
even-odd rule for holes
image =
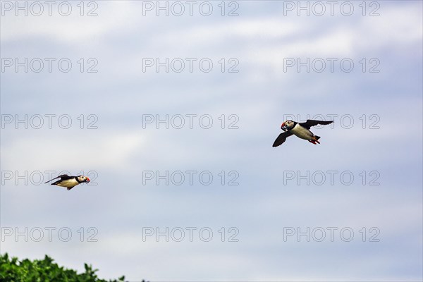
{"label": "larger puffin flying leftward with both black wings spread wide", "polygon": [[320,136],[314,135],[309,129],[314,125],[327,125],[333,123],[333,121],[314,121],[312,119],[307,119],[305,123],[298,123],[296,121],[284,121],[281,125],[281,130],[284,132],[279,134],[276,138],[273,147],[278,147],[283,142],[285,142],[287,137],[290,135],[295,135],[301,139],[305,139],[314,145],[320,144]]}

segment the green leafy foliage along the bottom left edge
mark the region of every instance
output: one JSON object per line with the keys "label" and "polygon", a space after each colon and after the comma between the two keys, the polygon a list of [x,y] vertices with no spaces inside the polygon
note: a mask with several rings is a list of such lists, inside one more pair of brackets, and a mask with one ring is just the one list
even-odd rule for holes
{"label": "green leafy foliage along the bottom left edge", "polygon": [[98,269],[92,269],[91,265],[84,264],[85,272],[78,274],[73,269],[65,269],[53,262],[49,256],[44,259],[23,259],[11,257],[8,254],[0,254],[0,281],[13,282],[44,282],[44,281],[63,281],[63,282],[121,282],[125,281],[125,276],[117,280],[106,281],[100,279],[95,274]]}

